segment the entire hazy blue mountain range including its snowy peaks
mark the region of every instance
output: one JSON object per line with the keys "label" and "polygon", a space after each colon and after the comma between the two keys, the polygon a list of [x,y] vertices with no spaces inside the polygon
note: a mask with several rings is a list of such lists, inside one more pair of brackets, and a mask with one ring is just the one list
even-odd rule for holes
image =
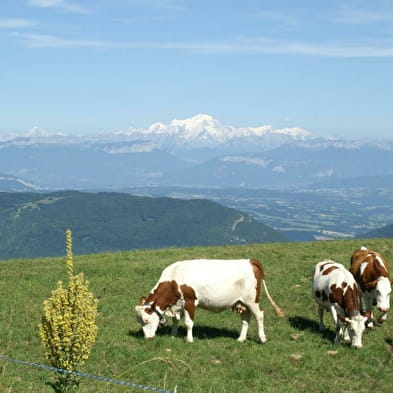
{"label": "entire hazy blue mountain range including its snowy peaks", "polygon": [[0,135],[3,177],[44,190],[320,187],[365,177],[384,183],[392,163],[393,141],[323,139],[301,128],[269,125],[233,127],[209,115],[90,136],[39,127],[25,136]]}

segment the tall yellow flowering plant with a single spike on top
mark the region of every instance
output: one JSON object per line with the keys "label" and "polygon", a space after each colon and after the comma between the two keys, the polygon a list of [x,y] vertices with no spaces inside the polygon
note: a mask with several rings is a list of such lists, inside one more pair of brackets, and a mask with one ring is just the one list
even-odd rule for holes
{"label": "tall yellow flowering plant with a single spike on top", "polygon": [[[39,333],[51,366],[76,371],[88,359],[97,336],[97,299],[88,290],[83,273],[74,275],[72,234],[66,231],[68,285],[58,281],[52,296],[43,303]],[[71,374],[59,372],[55,390],[69,391],[78,382]]]}

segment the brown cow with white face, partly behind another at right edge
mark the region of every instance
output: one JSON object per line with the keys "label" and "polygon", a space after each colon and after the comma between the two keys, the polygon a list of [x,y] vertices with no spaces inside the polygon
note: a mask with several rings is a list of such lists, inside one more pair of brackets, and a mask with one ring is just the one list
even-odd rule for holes
{"label": "brown cow with white face, partly behind another at right edge", "polygon": [[[372,307],[376,306],[383,313],[378,318],[382,323],[387,319],[392,292],[386,260],[378,252],[362,247],[352,254],[349,270],[359,284],[360,304],[364,315],[372,320]],[[368,326],[372,327],[372,323]]]}

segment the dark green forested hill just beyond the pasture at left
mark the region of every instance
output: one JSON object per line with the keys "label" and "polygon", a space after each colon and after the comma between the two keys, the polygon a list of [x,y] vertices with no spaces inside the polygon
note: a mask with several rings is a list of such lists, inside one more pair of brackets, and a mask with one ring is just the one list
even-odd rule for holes
{"label": "dark green forested hill just beyond the pasture at left", "polygon": [[76,254],[286,240],[247,214],[207,200],[0,193],[0,259],[63,255],[67,228]]}

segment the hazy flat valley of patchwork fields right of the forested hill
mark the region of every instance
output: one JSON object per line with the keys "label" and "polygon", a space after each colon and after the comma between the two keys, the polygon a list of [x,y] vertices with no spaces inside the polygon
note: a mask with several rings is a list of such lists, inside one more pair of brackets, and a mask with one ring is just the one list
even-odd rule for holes
{"label": "hazy flat valley of patchwork fields right of the forested hill", "polygon": [[393,223],[390,183],[372,187],[365,181],[362,187],[314,186],[297,190],[158,187],[133,191],[210,199],[279,229],[292,242],[354,238]]}

